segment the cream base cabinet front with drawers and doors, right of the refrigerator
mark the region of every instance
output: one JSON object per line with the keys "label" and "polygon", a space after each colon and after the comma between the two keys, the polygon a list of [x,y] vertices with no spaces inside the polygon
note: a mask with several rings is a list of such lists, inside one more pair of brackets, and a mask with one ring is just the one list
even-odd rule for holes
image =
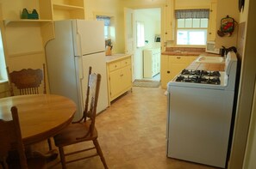
{"label": "cream base cabinet front with drawers and doors, right of the refrigerator", "polygon": [[120,95],[132,88],[131,56],[107,63],[109,105]]}

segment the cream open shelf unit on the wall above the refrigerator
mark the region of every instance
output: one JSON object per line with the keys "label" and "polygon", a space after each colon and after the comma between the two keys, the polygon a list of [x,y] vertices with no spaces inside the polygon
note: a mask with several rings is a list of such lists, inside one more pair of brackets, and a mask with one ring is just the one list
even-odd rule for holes
{"label": "cream open shelf unit on the wall above the refrigerator", "polygon": [[52,2],[53,20],[84,19],[84,0],[49,0]]}

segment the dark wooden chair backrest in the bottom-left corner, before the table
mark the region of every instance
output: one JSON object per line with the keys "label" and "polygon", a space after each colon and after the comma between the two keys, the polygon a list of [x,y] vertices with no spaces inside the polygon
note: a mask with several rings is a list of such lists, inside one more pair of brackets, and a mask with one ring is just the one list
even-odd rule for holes
{"label": "dark wooden chair backrest in the bottom-left corner, before the table", "polygon": [[11,107],[12,120],[0,119],[0,158],[3,160],[3,168],[6,168],[6,158],[10,150],[17,150],[20,158],[21,168],[28,168],[22,133],[16,106]]}

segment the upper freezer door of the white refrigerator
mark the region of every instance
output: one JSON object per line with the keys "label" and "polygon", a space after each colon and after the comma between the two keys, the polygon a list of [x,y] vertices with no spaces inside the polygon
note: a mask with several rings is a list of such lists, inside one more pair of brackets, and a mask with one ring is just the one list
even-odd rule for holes
{"label": "upper freezer door of the white refrigerator", "polygon": [[104,23],[103,21],[75,20],[77,34],[75,55],[82,56],[99,51],[105,51]]}

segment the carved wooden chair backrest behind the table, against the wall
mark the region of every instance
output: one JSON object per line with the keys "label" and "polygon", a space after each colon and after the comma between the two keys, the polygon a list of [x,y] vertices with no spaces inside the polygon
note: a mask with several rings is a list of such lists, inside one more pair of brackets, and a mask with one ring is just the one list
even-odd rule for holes
{"label": "carved wooden chair backrest behind the table, against the wall", "polygon": [[13,84],[24,94],[39,94],[39,88],[43,84],[43,94],[47,94],[45,75],[45,64],[42,69],[21,69],[19,71],[9,72],[9,92],[11,96],[15,95]]}

